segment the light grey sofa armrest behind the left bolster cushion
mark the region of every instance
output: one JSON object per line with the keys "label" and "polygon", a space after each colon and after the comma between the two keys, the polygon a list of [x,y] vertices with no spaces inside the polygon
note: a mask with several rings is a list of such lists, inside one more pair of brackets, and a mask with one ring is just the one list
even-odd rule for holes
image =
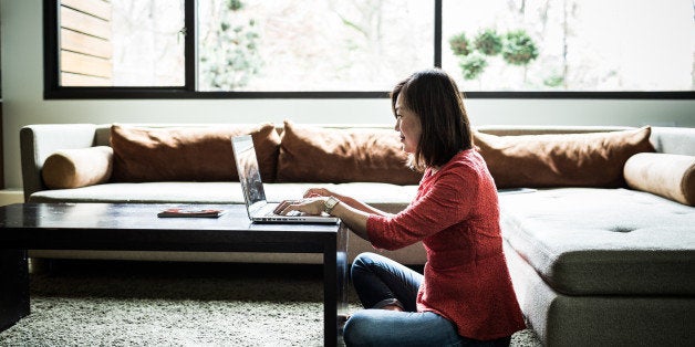
{"label": "light grey sofa armrest behind the left bolster cushion", "polygon": [[41,168],[45,158],[60,149],[94,146],[94,124],[40,124],[20,129],[22,186],[24,201],[40,190],[45,190]]}

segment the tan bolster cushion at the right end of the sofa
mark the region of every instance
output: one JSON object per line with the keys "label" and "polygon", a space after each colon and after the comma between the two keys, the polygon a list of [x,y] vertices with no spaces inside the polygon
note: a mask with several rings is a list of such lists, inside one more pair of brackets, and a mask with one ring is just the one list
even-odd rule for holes
{"label": "tan bolster cushion at the right end of the sofa", "polygon": [[632,189],[695,206],[695,156],[636,154],[627,159],[623,174]]}

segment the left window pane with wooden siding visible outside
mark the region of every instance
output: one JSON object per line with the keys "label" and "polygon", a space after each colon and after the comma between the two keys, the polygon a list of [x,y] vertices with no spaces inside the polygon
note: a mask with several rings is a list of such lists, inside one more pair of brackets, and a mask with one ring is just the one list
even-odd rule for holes
{"label": "left window pane with wooden siding visible outside", "polygon": [[58,84],[184,86],[184,1],[62,0]]}

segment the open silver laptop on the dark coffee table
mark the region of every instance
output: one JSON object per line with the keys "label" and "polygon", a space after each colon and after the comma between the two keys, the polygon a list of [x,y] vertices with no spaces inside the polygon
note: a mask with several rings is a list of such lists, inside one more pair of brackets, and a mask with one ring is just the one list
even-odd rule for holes
{"label": "open silver laptop on the dark coffee table", "polygon": [[236,136],[231,138],[231,147],[234,148],[235,161],[237,162],[237,172],[239,174],[239,182],[243,192],[246,210],[249,219],[260,223],[330,223],[335,224],[340,219],[330,215],[282,215],[277,214],[273,210],[278,207],[278,202],[266,201],[266,191],[261,181],[260,170],[258,168],[258,159],[256,158],[256,148],[250,135]]}

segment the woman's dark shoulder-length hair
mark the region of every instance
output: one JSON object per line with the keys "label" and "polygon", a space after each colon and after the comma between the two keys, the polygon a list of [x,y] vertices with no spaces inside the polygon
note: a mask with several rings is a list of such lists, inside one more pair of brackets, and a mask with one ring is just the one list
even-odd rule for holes
{"label": "woman's dark shoulder-length hair", "polygon": [[443,166],[457,153],[473,148],[463,95],[444,71],[419,71],[396,84],[391,93],[394,115],[398,95],[403,106],[417,114],[423,130],[409,162],[414,169]]}

